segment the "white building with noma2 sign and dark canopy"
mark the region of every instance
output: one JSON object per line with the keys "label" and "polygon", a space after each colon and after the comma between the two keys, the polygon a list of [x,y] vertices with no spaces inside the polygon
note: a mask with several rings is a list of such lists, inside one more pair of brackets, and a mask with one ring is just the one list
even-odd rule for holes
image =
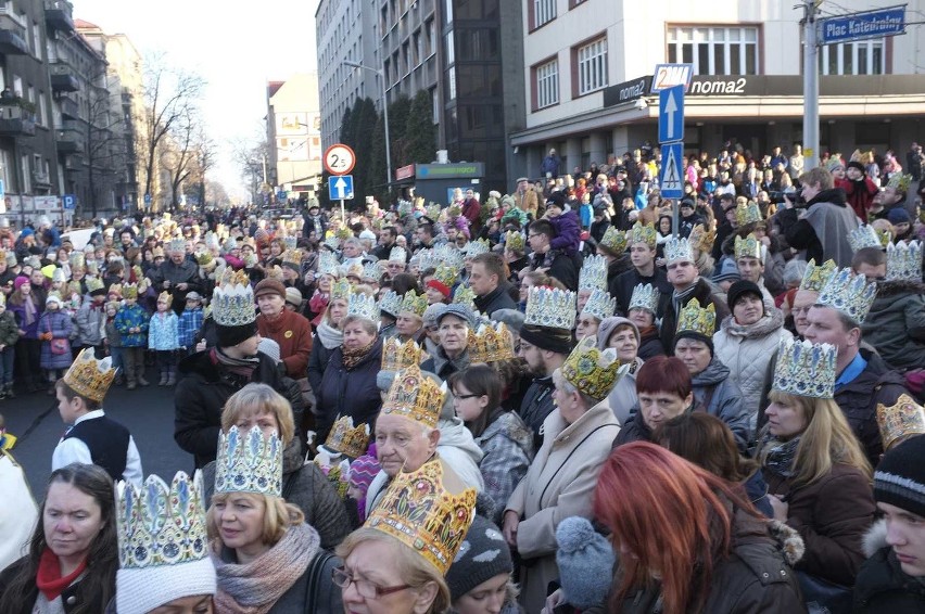
{"label": "white building with noma2 sign and dark canopy", "polygon": [[[907,22],[912,18],[911,2]],[[862,0],[823,3],[820,18],[870,10]],[[664,0],[658,12],[611,0],[530,0],[524,11],[527,123],[511,135],[530,177],[550,148],[560,172],[607,163],[657,144],[656,66],[693,67],[685,99],[685,151],[717,152],[728,141],[759,155],[802,141],[801,9],[776,0]],[[905,151],[925,138],[922,25],[905,36],[820,48],[820,145]]]}

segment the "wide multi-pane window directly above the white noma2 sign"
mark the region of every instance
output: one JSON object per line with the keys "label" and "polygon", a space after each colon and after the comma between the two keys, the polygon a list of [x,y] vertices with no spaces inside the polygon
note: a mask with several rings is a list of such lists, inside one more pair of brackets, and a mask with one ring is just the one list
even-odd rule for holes
{"label": "wide multi-pane window directly above the white noma2 sign", "polygon": [[757,75],[757,27],[669,27],[668,61],[696,75]]}

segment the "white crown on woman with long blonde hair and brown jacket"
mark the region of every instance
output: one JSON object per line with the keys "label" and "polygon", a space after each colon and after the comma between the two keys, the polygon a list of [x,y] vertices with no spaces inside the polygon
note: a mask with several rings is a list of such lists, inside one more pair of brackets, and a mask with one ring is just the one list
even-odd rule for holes
{"label": "white crown on woman with long blonde hair and brown jacket", "polygon": [[800,397],[833,398],[837,355],[838,348],[827,343],[783,340],[771,389]]}

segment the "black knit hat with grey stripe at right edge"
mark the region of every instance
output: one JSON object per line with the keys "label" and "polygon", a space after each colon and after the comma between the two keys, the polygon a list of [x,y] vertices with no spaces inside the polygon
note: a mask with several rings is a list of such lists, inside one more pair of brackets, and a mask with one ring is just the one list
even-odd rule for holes
{"label": "black knit hat with grey stripe at right edge", "polygon": [[890,448],[874,472],[874,500],[925,517],[925,436]]}

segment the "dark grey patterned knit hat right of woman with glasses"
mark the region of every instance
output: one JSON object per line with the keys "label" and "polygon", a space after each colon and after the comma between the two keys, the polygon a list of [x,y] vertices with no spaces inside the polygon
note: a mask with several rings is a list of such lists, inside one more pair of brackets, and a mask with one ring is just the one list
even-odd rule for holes
{"label": "dark grey patterned knit hat right of woman with glasses", "polygon": [[451,601],[456,601],[498,574],[510,574],[512,571],[510,548],[502,532],[491,521],[477,515],[446,572]]}

